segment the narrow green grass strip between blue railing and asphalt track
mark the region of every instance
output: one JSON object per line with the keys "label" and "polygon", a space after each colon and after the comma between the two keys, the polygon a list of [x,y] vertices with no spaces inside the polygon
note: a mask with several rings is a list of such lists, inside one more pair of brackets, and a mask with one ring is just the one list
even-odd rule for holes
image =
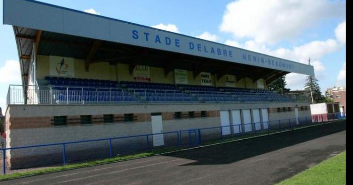
{"label": "narrow green grass strip between blue railing and asphalt track", "polygon": [[[297,127],[297,128],[293,128],[292,130],[304,129],[304,128],[308,128],[308,127],[314,127],[317,125],[322,125],[322,124]],[[273,131],[269,131],[269,132],[262,132],[262,133],[257,133],[257,134],[246,134],[246,135],[241,135],[241,136],[232,136],[232,137],[227,137],[224,139],[216,139],[216,140],[212,140],[212,141],[208,141],[208,142],[202,142],[202,144],[200,144],[198,146],[233,142],[233,141],[246,139],[246,138],[261,137],[261,136],[265,136],[265,135],[269,135],[269,134],[285,132],[288,130],[290,130],[290,129],[281,130],[281,131],[273,130]],[[178,151],[181,149],[184,149],[184,148],[183,147],[170,147],[170,148],[164,148],[164,149],[153,149],[152,151],[138,153],[138,154],[125,155],[125,156],[115,156],[115,157],[107,158],[107,159],[74,163],[74,164],[69,163],[65,166],[48,167],[48,168],[32,170],[32,171],[9,173],[9,174],[5,174],[5,175],[0,174],[0,181],[19,178],[19,177],[25,177],[25,176],[39,175],[39,174],[50,173],[50,172],[57,172],[57,171],[64,171],[64,170],[69,170],[69,169],[76,169],[76,168],[82,168],[82,167],[107,164],[107,163],[112,163],[112,162],[125,161],[125,160],[130,160],[130,159],[137,159],[137,158],[142,158],[142,157],[150,157],[150,156],[154,156],[154,155],[158,155],[158,154],[162,154],[162,153]]]}

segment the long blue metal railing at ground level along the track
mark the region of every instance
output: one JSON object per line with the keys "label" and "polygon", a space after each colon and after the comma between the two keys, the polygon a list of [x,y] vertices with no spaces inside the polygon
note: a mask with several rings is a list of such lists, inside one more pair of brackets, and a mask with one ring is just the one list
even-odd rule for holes
{"label": "long blue metal railing at ground level along the track", "polygon": [[[326,117],[326,119],[325,119]],[[337,119],[344,119],[345,115],[341,115],[340,113],[335,113],[335,114],[324,114],[324,115],[319,115],[319,116],[306,116],[306,117],[297,117],[297,118],[288,118],[288,119],[280,119],[280,120],[273,120],[273,121],[263,121],[263,122],[253,122],[251,124],[234,124],[234,125],[229,125],[229,126],[219,126],[219,127],[209,127],[209,128],[194,128],[194,129],[189,129],[189,130],[181,130],[181,131],[172,131],[172,132],[164,132],[164,133],[156,133],[156,134],[142,134],[142,135],[134,135],[134,136],[123,136],[123,137],[112,137],[112,138],[101,138],[101,139],[92,139],[92,140],[82,140],[82,141],[72,141],[72,142],[62,142],[62,143],[52,143],[52,144],[42,144],[42,145],[31,145],[31,146],[20,146],[20,147],[11,147],[11,148],[2,148],[2,154],[3,154],[3,160],[2,160],[2,167],[3,167],[3,174],[6,174],[7,172],[7,152],[13,151],[13,150],[20,150],[20,149],[34,149],[38,150],[38,148],[45,148],[48,146],[62,146],[62,164],[66,165],[67,164],[67,147],[73,144],[82,144],[82,143],[88,143],[88,142],[99,142],[99,141],[108,141],[108,148],[109,148],[109,154],[108,157],[113,157],[113,145],[112,141],[114,140],[123,140],[123,139],[132,139],[132,138],[145,138],[146,145],[143,147],[144,150],[151,150],[153,149],[153,144],[151,145],[150,142],[150,137],[156,136],[156,135],[163,135],[163,141],[165,140],[164,136],[165,135],[171,135],[174,138],[176,138],[176,142],[173,142],[172,145],[169,144],[164,144],[164,147],[181,147],[181,146],[196,146],[202,143],[203,140],[205,141],[211,141],[214,139],[224,139],[224,137],[229,137],[229,136],[241,136],[244,134],[257,134],[257,133],[268,133],[270,131],[282,131],[284,129],[294,129],[297,126],[304,126],[304,125],[310,125],[310,124],[316,124],[316,123],[321,123],[321,122],[326,122],[329,120],[337,120]],[[292,121],[291,121],[292,120]],[[294,121],[293,121],[294,120]],[[305,120],[305,121],[304,121]],[[261,128],[256,129],[256,125],[260,124]],[[251,131],[250,132],[244,132],[245,126],[250,125],[251,126]],[[266,128],[265,128],[266,126]],[[223,129],[224,128],[229,128],[229,133],[230,134],[224,134]],[[237,128],[238,130],[234,130]],[[206,131],[215,131],[206,134]],[[237,132],[236,132],[237,131]],[[205,133],[205,134],[204,134]],[[203,135],[204,134],[204,135]],[[209,135],[214,135],[214,136],[209,136]],[[184,137],[187,135],[186,137]],[[187,140],[188,144],[184,144],[184,140]],[[162,146],[162,147],[163,147]],[[50,154],[48,154],[50,155]],[[95,156],[92,156],[91,158],[96,158]],[[27,161],[28,162],[28,161]],[[23,164],[25,165],[25,164]]]}

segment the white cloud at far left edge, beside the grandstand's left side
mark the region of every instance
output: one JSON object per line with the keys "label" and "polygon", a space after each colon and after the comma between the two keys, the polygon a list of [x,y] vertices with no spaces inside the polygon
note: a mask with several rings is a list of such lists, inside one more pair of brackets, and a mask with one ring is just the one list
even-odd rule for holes
{"label": "white cloud at far left edge, beside the grandstand's left side", "polygon": [[17,60],[6,60],[0,67],[1,83],[21,83],[20,63]]}

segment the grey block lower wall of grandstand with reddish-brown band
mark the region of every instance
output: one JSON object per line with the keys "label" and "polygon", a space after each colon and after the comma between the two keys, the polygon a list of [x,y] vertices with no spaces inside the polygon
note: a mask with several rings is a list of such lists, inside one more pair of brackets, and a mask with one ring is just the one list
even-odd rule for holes
{"label": "grey block lower wall of grandstand with reddish-brown band", "polygon": [[[220,126],[220,110],[268,108],[269,119],[295,117],[294,108],[290,112],[274,112],[277,107],[309,106],[308,103],[218,103],[218,104],[132,104],[132,105],[10,105],[6,111],[7,147],[61,143],[89,139],[134,136],[152,133],[151,113],[161,112],[163,133],[211,128]],[[181,111],[207,111],[208,117],[183,117],[175,119],[174,113]],[[103,114],[123,116],[134,113],[134,122],[118,121],[104,124]],[[67,126],[54,126],[53,116],[68,117]],[[81,125],[80,115],[92,115],[98,120],[91,125]],[[310,115],[310,110],[299,111],[299,116]],[[76,119],[76,121],[75,121]],[[198,133],[196,133],[198,134]],[[202,140],[219,138],[220,129],[202,131]],[[196,136],[196,135],[195,135]],[[182,143],[188,144],[189,133],[181,135]],[[194,138],[196,139],[196,138]],[[153,136],[149,136],[149,146],[153,146]],[[177,134],[166,134],[164,143],[167,146],[178,144]],[[147,147],[146,137],[119,139],[112,142],[113,155],[134,153]],[[31,165],[55,163],[62,161],[62,146],[12,150],[7,153],[9,166],[19,168]],[[108,157],[108,141],[88,142],[67,145],[68,160],[77,161],[92,156]],[[48,158],[48,156],[52,156]],[[46,160],[43,160],[45,158]],[[42,162],[42,163],[41,163]]]}

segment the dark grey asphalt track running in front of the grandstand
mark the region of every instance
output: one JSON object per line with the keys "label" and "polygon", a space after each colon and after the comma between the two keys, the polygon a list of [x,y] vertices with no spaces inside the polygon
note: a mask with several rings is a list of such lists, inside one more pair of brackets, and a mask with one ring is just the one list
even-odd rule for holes
{"label": "dark grey asphalt track running in front of the grandstand", "polygon": [[346,148],[336,124],[0,182],[0,184],[274,184]]}

